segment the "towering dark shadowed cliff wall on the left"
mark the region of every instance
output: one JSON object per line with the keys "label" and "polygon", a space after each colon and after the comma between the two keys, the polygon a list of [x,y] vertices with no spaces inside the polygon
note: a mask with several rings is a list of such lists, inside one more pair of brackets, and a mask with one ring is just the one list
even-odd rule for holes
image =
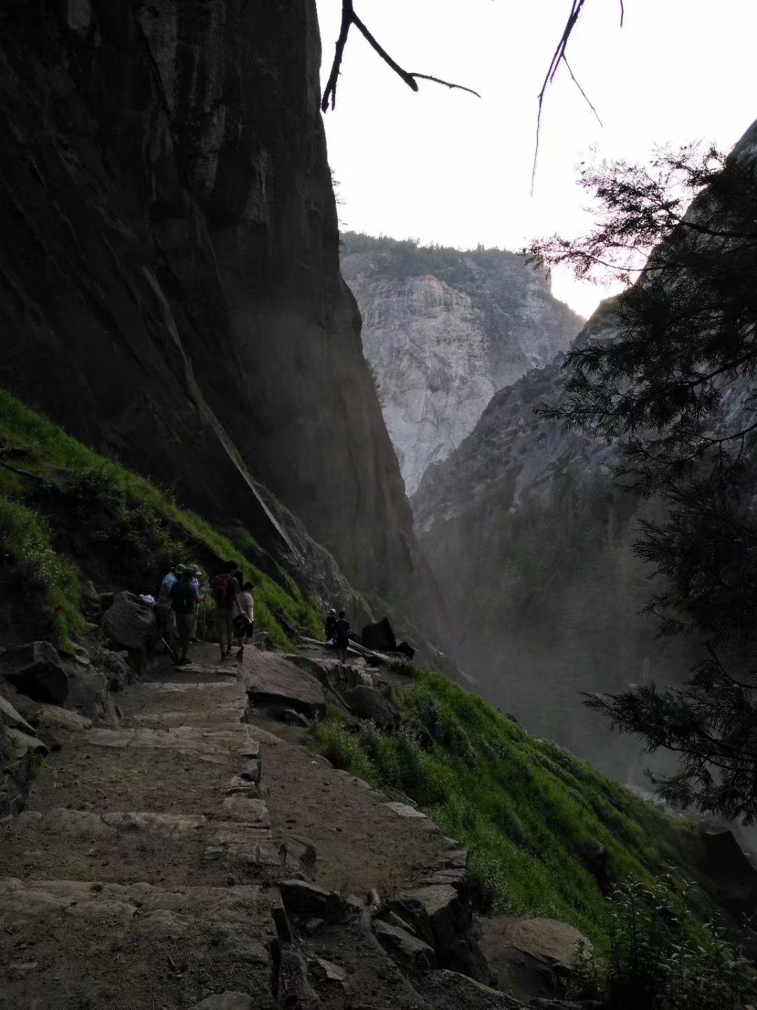
{"label": "towering dark shadowed cliff wall on the left", "polygon": [[0,3],[0,383],[297,553],[260,482],[356,589],[429,613],[319,64],[314,0]]}

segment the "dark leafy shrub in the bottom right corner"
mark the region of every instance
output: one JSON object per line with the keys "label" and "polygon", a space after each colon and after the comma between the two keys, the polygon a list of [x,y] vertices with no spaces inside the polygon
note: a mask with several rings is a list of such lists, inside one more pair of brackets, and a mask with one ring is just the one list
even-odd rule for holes
{"label": "dark leafy shrub in the bottom right corner", "polygon": [[718,922],[695,939],[690,885],[672,873],[651,888],[629,882],[613,894],[607,957],[583,950],[580,995],[601,996],[609,1010],[742,1010],[757,997],[757,977]]}

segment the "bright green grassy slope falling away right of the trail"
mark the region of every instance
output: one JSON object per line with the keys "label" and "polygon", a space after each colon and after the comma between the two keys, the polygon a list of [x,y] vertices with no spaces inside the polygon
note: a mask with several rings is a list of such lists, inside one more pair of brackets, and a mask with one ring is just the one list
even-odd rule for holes
{"label": "bright green grassy slope falling away right of the trail", "polygon": [[[376,788],[411,797],[468,849],[473,884],[495,908],[570,922],[607,945],[610,905],[599,881],[649,883],[663,864],[691,866],[692,826],[656,811],[549,740],[439,674],[408,670],[395,692],[397,734],[353,734],[331,710],[319,750]],[[705,913],[705,899],[699,911]]]}

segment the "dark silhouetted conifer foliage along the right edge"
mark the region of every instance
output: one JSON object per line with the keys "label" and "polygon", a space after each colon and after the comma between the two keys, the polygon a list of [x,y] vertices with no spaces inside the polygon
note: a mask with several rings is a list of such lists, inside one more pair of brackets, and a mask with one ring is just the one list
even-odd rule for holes
{"label": "dark silhouetted conifer foliage along the right edge", "polygon": [[665,799],[746,823],[757,817],[755,147],[757,128],[728,157],[688,146],[649,167],[584,168],[596,227],[527,250],[627,285],[567,356],[560,402],[538,412],[615,443],[617,481],[665,502],[634,547],[653,573],[646,609],[660,634],[702,648],[682,687],[586,704],[650,752],[679,753],[677,773],[656,780]]}

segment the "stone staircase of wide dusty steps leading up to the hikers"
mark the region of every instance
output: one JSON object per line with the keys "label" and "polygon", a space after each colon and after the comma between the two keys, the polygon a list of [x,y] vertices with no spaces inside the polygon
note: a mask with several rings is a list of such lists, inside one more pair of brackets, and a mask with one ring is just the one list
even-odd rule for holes
{"label": "stone staircase of wide dusty steps leading up to the hikers", "polygon": [[276,1005],[282,861],[246,694],[179,677],[119,695],[117,729],[60,731],[51,774],[2,830],[3,1010],[189,1007],[229,990]]}

